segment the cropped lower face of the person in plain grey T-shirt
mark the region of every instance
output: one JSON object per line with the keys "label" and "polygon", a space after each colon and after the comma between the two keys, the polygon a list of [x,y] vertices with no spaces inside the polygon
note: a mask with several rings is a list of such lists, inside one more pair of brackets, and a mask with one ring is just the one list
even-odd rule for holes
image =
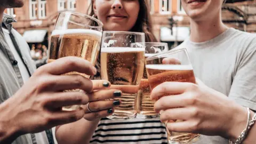
{"label": "cropped lower face of the person in plain grey T-shirt", "polygon": [[182,0],[181,3],[191,19],[204,21],[220,13],[223,0]]}

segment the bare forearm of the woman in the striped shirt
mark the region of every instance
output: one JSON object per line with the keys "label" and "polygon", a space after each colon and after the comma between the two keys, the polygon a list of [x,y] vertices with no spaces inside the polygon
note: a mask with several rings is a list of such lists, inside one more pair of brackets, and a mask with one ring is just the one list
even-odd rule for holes
{"label": "bare forearm of the woman in the striped shirt", "polygon": [[[82,118],[77,122],[61,125],[56,128],[56,139],[58,143],[89,143],[94,131],[97,129],[100,120],[93,122]],[[70,135],[76,137],[70,137]]]}

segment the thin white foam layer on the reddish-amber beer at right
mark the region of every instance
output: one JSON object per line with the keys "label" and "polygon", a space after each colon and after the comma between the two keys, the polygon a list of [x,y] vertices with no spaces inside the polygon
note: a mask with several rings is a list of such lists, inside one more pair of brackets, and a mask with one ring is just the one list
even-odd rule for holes
{"label": "thin white foam layer on the reddish-amber beer at right", "polygon": [[192,65],[146,65],[146,68],[157,70],[193,70]]}

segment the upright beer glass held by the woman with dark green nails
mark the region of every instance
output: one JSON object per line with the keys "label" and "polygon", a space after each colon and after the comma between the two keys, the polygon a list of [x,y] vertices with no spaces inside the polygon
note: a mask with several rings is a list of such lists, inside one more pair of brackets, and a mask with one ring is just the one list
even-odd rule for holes
{"label": "upright beer glass held by the woman with dark green nails", "polygon": [[[137,43],[134,45],[133,43]],[[135,98],[145,66],[145,34],[123,31],[103,31],[101,45],[101,76],[113,87],[126,89],[119,98],[110,119],[131,119],[136,116]]]}

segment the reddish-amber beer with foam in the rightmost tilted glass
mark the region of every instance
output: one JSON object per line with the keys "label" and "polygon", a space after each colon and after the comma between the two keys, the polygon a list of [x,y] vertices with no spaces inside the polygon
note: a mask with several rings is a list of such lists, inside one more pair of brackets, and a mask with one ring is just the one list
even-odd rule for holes
{"label": "reddish-amber beer with foam in the rightmost tilted glass", "polygon": [[[151,90],[164,82],[196,83],[193,67],[191,65],[146,65],[146,69]],[[166,95],[169,94],[166,93]],[[180,121],[182,120],[172,120],[166,123]],[[172,143],[193,143],[199,140],[200,136],[200,134],[194,133],[171,132],[167,129],[166,131],[168,139]]]}

